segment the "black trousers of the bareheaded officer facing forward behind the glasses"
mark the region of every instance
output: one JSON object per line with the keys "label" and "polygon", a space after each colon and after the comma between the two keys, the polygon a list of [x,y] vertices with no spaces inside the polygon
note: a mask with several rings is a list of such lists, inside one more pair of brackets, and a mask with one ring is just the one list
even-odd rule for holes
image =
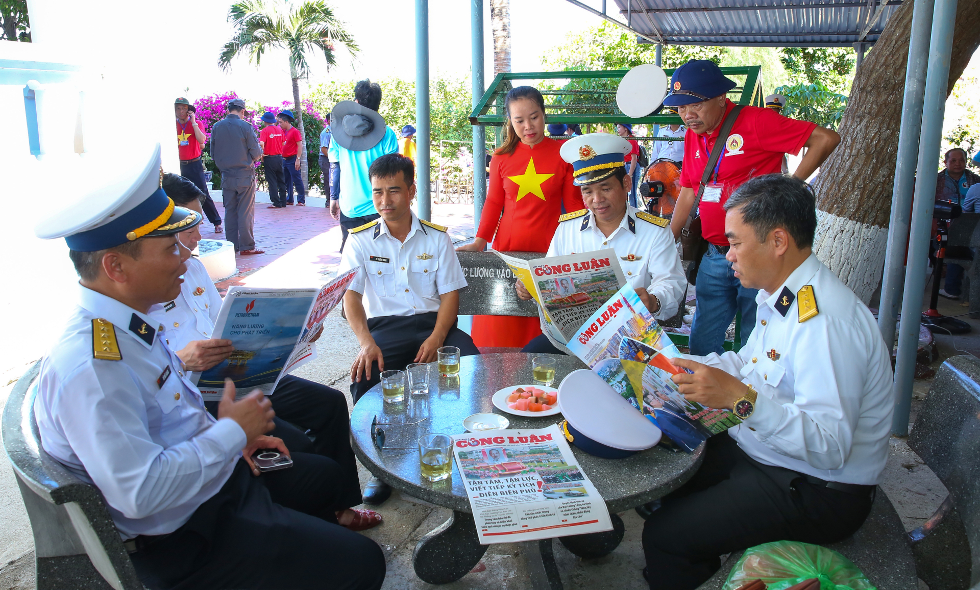
{"label": "black trousers of the bareheaded officer facing forward behind the glasses", "polygon": [[[416,315],[384,315],[368,319],[368,330],[377,347],[381,349],[385,371],[392,369],[404,371],[405,367],[416,360],[418,348],[432,335],[438,316],[437,312],[430,311]],[[461,356],[479,354],[480,350],[473,343],[473,339],[456,325],[457,322],[453,322],[453,327],[449,329],[449,334],[446,335],[442,345],[456,346],[460,349]],[[368,389],[380,382],[377,363],[373,362],[370,365],[370,379],[365,380],[362,375],[360,382],[351,384],[354,403],[357,403]]]}

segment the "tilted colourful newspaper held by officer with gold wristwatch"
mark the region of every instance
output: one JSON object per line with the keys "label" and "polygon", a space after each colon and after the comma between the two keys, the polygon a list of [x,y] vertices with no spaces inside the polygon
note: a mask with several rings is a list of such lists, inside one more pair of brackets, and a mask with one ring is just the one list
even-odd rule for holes
{"label": "tilted colourful newspaper held by officer with gold wristwatch", "polygon": [[687,451],[742,422],[729,410],[706,408],[677,390],[670,376],[685,369],[670,359],[680,351],[629,287],[604,302],[568,348]]}

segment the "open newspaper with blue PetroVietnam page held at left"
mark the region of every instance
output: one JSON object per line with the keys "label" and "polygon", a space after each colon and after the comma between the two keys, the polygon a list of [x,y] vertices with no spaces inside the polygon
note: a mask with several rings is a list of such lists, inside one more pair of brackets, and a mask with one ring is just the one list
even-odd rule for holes
{"label": "open newspaper with blue PetroVietnam page held at left", "polygon": [[238,395],[255,388],[269,395],[283,375],[317,357],[312,342],[323,320],[357,276],[355,268],[316,289],[236,286],[221,302],[214,338],[231,340],[231,356],[191,377],[207,400],[221,399],[224,380]]}

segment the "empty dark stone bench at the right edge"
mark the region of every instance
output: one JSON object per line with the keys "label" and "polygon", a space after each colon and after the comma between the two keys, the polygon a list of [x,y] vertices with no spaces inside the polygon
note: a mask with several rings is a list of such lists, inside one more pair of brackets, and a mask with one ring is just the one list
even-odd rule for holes
{"label": "empty dark stone bench at the right edge", "polygon": [[908,533],[918,576],[930,590],[980,584],[980,360],[962,355],[943,363],[908,446],[950,491],[936,513]]}

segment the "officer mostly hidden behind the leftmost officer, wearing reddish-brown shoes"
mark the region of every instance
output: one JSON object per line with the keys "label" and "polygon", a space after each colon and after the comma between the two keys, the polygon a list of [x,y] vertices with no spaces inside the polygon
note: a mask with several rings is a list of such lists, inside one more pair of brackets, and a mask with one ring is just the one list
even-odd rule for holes
{"label": "officer mostly hidden behind the leftmost officer, wearing reddish-brown shoes", "polygon": [[[203,215],[204,194],[194,183],[183,176],[166,173],[163,188],[175,204]],[[177,234],[188,253],[201,240],[198,228],[194,226]],[[231,340],[212,338],[221,309],[221,294],[208,276],[208,269],[196,256],[188,256],[184,263],[187,271],[180,295],[153,305],[150,316],[167,327],[166,342],[186,370],[207,371],[227,358],[233,347]],[[364,530],[381,522],[377,513],[353,508],[362,502],[361,483],[357,459],[351,449],[350,414],[344,394],[332,387],[286,375],[279,380],[269,400],[275,411],[275,430],[270,435],[281,438],[293,451],[317,453],[340,466],[347,510],[338,517],[338,522],[353,530]],[[217,401],[207,401],[205,406],[217,416]],[[310,431],[310,436],[305,431]]]}

